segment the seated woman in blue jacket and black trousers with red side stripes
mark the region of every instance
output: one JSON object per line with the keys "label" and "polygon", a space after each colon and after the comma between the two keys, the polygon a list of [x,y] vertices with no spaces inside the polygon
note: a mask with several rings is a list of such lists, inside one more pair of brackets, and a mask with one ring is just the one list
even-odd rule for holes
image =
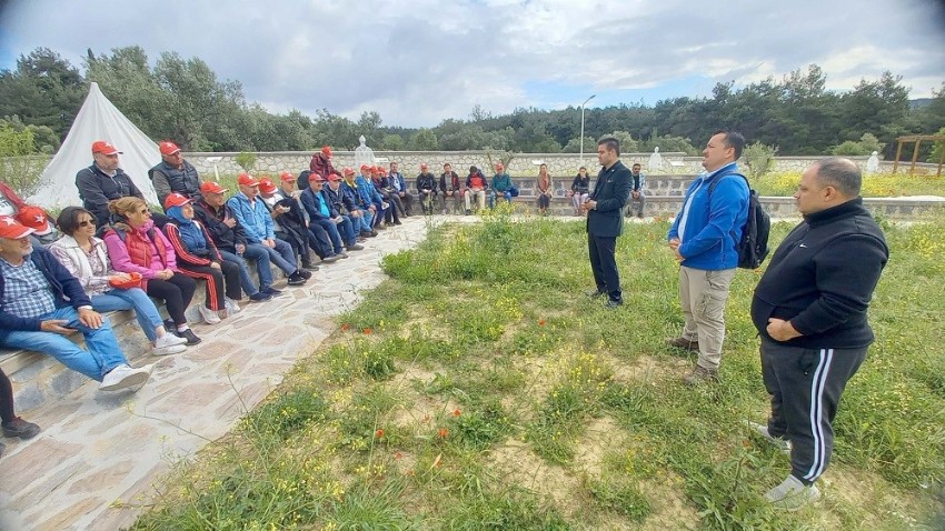
{"label": "seated woman in blue jacket and black trousers with red side stripes", "polygon": [[198,309],[207,323],[216,324],[220,322],[221,311],[222,317],[228,317],[226,298],[233,301],[231,308],[242,298],[239,266],[220,256],[210,233],[193,219],[193,206],[190,203],[190,198],[180,193],[171,193],[165,198],[165,212],[170,218],[165,226],[165,234],[177,254],[177,267],[180,271],[188,277],[207,281],[206,302]]}

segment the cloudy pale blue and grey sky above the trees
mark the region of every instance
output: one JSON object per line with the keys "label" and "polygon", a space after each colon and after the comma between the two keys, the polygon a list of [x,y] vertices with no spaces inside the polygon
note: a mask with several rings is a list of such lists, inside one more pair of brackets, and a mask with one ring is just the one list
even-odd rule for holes
{"label": "cloudy pale blue and grey sky above the trees", "polygon": [[138,44],[199,57],[273,112],[328,109],[386,126],[518,107],[710,94],[810,63],[848,90],[884,70],[912,98],[945,81],[935,0],[0,0],[0,68],[37,47],[81,68]]}

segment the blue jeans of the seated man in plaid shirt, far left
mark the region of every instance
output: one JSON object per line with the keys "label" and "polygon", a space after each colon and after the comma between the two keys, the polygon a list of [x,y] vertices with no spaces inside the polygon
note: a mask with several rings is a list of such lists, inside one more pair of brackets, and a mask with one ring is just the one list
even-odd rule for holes
{"label": "blue jeans of the seated man in plaid shirt, far left", "polygon": [[62,325],[79,330],[86,338],[89,350],[80,349],[69,338],[56,332],[23,330],[11,330],[3,340],[3,347],[42,352],[56,358],[69,369],[98,381],[101,381],[108,371],[128,363],[121,347],[118,345],[118,340],[115,339],[108,319],[103,319],[98,329],[91,329],[79,322],[79,312],[72,307],[56,309],[46,315],[40,315],[39,319],[68,321]]}

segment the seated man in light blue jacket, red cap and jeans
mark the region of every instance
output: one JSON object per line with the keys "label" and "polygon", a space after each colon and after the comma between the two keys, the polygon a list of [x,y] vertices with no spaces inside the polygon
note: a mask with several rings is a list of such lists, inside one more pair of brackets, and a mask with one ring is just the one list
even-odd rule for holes
{"label": "seated man in light blue jacket, red cap and jeans", "polygon": [[246,232],[247,243],[258,243],[269,254],[269,260],[286,273],[289,285],[302,285],[311,278],[311,273],[299,269],[292,247],[276,238],[276,226],[269,210],[257,197],[259,181],[249,173],[240,173],[237,182],[239,193],[227,200],[227,207]]}

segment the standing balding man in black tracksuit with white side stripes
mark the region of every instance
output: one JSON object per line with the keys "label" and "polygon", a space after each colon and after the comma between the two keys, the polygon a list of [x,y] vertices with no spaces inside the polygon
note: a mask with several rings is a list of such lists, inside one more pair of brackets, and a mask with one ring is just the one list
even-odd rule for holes
{"label": "standing balding man in black tracksuit with white side stripes", "polygon": [[754,427],[790,442],[790,475],[765,498],[789,510],[820,495],[814,482],[830,460],[840,394],[874,339],[866,309],[889,249],[859,188],[848,159],[804,172],[794,193],[804,221],[775,251],[752,301],[772,395],[767,427]]}

